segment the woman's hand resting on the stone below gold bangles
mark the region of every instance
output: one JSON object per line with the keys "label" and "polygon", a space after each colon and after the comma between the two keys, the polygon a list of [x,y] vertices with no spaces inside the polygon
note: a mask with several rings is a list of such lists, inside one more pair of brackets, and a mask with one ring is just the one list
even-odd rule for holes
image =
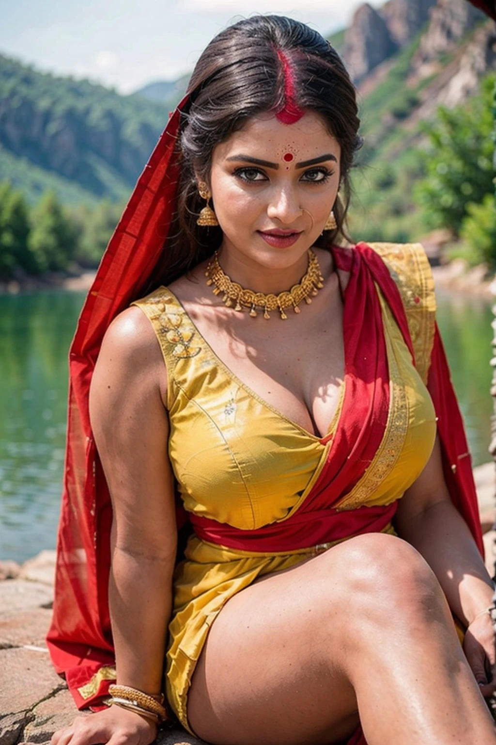
{"label": "woman's hand resting on the stone below gold bangles", "polygon": [[76,717],[70,727],[59,729],[51,745],[149,745],[157,736],[152,720],[121,706]]}

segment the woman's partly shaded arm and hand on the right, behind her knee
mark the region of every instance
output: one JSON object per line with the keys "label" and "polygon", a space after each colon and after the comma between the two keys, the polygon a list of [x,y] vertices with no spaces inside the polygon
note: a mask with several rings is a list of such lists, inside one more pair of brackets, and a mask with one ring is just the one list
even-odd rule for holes
{"label": "woman's partly shaded arm and hand on the right, behind her knee", "polygon": [[396,527],[431,566],[452,612],[468,627],[468,662],[477,680],[487,682],[488,662],[495,665],[495,640],[489,614],[480,614],[491,606],[494,588],[466,522],[451,502],[438,439],[425,469],[399,500]]}

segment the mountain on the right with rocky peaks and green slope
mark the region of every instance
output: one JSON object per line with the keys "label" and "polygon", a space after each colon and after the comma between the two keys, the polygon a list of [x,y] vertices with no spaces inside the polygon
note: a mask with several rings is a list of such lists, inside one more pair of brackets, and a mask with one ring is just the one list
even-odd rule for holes
{"label": "mountain on the right with rocky peaks and green slope", "polygon": [[465,0],[437,0],[428,23],[358,80],[364,147],[355,168],[354,239],[408,241],[427,232],[413,198],[423,176],[422,122],[465,104],[496,72],[496,29]]}

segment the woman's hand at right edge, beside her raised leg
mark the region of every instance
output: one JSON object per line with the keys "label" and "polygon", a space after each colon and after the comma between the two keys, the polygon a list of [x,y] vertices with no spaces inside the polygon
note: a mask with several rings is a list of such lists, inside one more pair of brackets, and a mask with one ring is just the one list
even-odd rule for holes
{"label": "woman's hand at right edge, beside her raised leg", "polygon": [[480,692],[488,697],[496,691],[495,632],[489,613],[477,615],[466,630],[463,651]]}

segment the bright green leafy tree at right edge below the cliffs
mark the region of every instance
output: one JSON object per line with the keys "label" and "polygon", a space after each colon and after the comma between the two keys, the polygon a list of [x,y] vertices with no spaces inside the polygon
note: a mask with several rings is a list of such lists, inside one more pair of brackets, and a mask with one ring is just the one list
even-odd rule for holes
{"label": "bright green leafy tree at right edge below the cliffs", "polygon": [[432,227],[448,227],[459,235],[468,204],[480,204],[494,193],[494,87],[494,76],[487,77],[479,95],[452,110],[440,107],[437,120],[424,125],[429,147],[419,157],[425,160],[427,177],[415,194]]}

